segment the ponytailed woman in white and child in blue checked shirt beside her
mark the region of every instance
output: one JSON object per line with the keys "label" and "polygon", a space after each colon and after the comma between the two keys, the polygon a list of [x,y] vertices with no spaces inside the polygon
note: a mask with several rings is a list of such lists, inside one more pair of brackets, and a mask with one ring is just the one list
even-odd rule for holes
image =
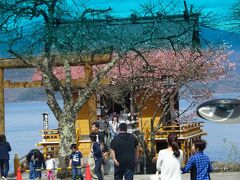
{"label": "ponytailed woman in white and child in blue checked shirt beside her", "polygon": [[209,172],[212,171],[212,166],[208,156],[203,153],[206,141],[202,139],[193,141],[193,155],[186,166],[181,168],[183,152],[178,147],[177,134],[169,134],[167,140],[168,148],[159,151],[156,164],[161,180],[181,180],[181,174],[189,171],[191,180],[210,180]]}

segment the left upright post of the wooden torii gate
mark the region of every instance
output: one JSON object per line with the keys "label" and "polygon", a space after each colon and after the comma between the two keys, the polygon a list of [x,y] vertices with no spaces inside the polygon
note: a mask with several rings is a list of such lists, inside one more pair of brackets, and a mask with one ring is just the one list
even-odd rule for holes
{"label": "left upright post of the wooden torii gate", "polygon": [[4,70],[0,69],[0,134],[5,134],[3,81],[4,81]]}

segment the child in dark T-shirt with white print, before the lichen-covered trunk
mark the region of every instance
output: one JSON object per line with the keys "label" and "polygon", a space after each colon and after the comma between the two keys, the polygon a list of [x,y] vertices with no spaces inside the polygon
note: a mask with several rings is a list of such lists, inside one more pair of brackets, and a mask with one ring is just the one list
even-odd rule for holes
{"label": "child in dark T-shirt with white print, before the lichen-covered trunk", "polygon": [[80,151],[77,150],[77,145],[72,144],[70,146],[72,150],[72,154],[70,155],[69,167],[72,167],[72,179],[76,180],[77,176],[83,180],[83,175],[81,172],[81,168],[83,165],[83,156]]}

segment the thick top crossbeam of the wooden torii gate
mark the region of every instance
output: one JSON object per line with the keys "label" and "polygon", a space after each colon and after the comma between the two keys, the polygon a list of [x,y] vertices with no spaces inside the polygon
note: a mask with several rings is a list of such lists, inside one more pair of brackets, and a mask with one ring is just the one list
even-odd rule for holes
{"label": "thick top crossbeam of the wooden torii gate", "polygon": [[[60,61],[60,56],[52,56],[51,57],[53,62],[55,63],[54,66],[61,66],[63,63]],[[102,55],[72,55],[67,57],[69,59],[69,63],[71,66],[77,65],[97,65],[97,64],[106,64],[111,61],[110,54],[102,54]],[[34,59],[36,63],[41,63],[44,57],[38,57]],[[24,63],[20,59],[17,58],[0,58],[0,68],[1,69],[17,69],[17,68],[34,68],[33,66]]]}

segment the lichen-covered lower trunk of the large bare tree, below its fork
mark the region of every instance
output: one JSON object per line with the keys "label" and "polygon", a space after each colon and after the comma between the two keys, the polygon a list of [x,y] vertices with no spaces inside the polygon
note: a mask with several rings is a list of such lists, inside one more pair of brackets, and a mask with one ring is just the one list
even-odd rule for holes
{"label": "lichen-covered lower trunk of the large bare tree, below its fork", "polygon": [[63,169],[58,171],[57,177],[62,179],[69,175],[66,167],[68,167],[68,157],[71,154],[70,146],[76,143],[75,117],[71,113],[65,113],[59,120],[59,134],[59,167]]}

